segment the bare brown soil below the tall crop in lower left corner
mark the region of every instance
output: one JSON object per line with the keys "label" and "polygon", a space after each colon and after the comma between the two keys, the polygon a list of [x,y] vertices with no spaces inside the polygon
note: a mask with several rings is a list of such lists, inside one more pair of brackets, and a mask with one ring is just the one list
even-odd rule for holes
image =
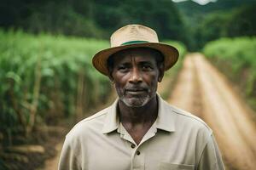
{"label": "bare brown soil below the tall crop in lower left corner", "polygon": [[0,169],[41,170],[44,161],[55,156],[55,145],[67,133],[66,127],[38,127],[26,144],[4,147],[0,152]]}

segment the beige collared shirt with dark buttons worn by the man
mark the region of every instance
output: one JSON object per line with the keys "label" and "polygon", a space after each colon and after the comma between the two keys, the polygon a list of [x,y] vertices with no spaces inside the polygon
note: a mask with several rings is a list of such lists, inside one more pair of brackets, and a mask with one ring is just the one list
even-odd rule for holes
{"label": "beige collared shirt with dark buttons worn by the man", "polygon": [[119,122],[113,105],[67,134],[59,170],[224,169],[207,124],[158,96],[159,112],[140,144]]}

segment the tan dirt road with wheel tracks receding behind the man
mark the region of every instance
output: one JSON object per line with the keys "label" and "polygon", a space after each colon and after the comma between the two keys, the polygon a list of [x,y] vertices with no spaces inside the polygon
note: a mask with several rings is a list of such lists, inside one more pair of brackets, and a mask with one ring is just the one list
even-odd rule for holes
{"label": "tan dirt road with wheel tracks receding behind the man", "polygon": [[168,101],[195,113],[212,127],[227,169],[256,169],[253,114],[232,84],[201,54],[185,58]]}

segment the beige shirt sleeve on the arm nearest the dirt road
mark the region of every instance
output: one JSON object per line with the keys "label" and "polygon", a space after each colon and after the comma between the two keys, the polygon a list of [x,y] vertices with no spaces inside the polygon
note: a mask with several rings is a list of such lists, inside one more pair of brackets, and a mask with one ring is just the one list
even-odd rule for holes
{"label": "beige shirt sleeve on the arm nearest the dirt road", "polygon": [[213,136],[207,141],[207,144],[201,154],[201,158],[198,165],[198,170],[224,170],[224,163],[221,158],[220,151],[218,150],[218,144]]}

